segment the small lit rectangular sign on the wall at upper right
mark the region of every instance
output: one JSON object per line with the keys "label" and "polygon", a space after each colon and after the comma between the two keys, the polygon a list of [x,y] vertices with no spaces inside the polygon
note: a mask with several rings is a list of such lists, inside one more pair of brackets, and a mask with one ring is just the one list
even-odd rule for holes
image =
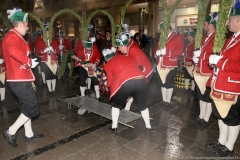
{"label": "small lit rectangular sign on the wall at upper right", "polygon": [[179,16],[176,17],[177,26],[196,26],[197,25],[197,15],[190,16]]}

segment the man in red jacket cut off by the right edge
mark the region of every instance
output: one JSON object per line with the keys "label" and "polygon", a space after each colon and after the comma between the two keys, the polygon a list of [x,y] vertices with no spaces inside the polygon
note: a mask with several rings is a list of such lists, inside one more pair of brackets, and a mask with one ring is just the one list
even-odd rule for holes
{"label": "man in red jacket cut off by the right edge", "polygon": [[215,155],[231,156],[240,130],[240,3],[234,3],[227,26],[234,35],[229,37],[220,55],[211,55],[209,64],[216,69],[209,79],[212,110],[218,118],[219,138],[206,145],[217,148]]}

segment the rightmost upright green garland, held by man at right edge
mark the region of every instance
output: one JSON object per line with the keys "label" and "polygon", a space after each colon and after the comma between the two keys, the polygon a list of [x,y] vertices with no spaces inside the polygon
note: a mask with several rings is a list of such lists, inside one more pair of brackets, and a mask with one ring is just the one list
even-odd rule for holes
{"label": "rightmost upright green garland, held by man at right edge", "polygon": [[231,6],[232,6],[232,0],[222,0],[220,3],[216,35],[215,35],[214,47],[213,47],[213,52],[216,54],[221,52],[225,42],[226,22],[228,19],[228,14],[231,9]]}

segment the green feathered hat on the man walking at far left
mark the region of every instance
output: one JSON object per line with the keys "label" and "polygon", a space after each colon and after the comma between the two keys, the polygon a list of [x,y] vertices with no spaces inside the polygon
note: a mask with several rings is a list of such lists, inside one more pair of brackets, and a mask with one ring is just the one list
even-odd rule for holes
{"label": "green feathered hat on the man walking at far left", "polygon": [[7,10],[8,19],[11,22],[28,22],[28,14],[22,12],[21,8],[15,7],[12,10]]}

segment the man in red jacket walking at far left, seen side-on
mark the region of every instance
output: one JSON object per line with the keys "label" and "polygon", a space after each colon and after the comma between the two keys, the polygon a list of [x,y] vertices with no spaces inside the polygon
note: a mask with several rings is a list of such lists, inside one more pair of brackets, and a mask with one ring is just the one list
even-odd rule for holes
{"label": "man in red jacket walking at far left, seen side-on", "polygon": [[30,59],[30,48],[23,39],[28,30],[28,14],[19,8],[7,11],[13,29],[11,29],[3,40],[3,57],[6,63],[6,79],[14,94],[21,104],[21,114],[15,123],[3,131],[8,143],[17,147],[16,132],[24,125],[25,141],[42,138],[43,134],[32,131],[31,119],[39,114],[39,104],[36,97],[33,81],[35,77],[31,68],[35,68],[38,62]]}

